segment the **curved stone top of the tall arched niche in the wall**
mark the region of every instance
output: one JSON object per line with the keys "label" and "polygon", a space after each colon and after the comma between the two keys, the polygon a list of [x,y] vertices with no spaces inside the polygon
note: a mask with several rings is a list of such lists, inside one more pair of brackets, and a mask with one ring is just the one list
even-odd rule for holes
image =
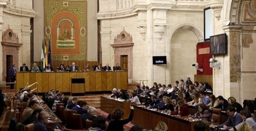
{"label": "curved stone top of the tall arched niche in the wall", "polygon": [[198,42],[203,42],[204,41],[204,32],[196,25],[193,24],[181,24],[176,27],[173,32],[171,33],[171,36],[175,34],[176,32],[182,30],[182,29],[187,29],[192,31],[195,34],[195,37],[197,37]]}

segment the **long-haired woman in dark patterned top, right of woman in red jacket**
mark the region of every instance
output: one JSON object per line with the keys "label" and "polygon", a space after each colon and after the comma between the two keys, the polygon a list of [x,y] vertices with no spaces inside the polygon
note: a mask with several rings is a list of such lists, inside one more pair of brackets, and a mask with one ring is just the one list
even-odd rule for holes
{"label": "long-haired woman in dark patterned top, right of woman in red jacket", "polygon": [[205,104],[199,104],[198,105],[198,111],[190,116],[189,120],[195,119],[195,121],[202,121],[207,120],[208,122],[211,121],[211,113],[208,111]]}

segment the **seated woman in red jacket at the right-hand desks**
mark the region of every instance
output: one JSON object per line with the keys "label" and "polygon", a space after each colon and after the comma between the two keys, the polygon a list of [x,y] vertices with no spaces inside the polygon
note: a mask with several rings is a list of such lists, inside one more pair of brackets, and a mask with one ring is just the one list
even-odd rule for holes
{"label": "seated woman in red jacket at the right-hand desks", "polygon": [[171,113],[171,111],[168,111],[168,113],[171,115],[180,115],[180,116],[189,116],[189,108],[187,107],[187,104],[185,104],[182,100],[178,101],[178,110]]}

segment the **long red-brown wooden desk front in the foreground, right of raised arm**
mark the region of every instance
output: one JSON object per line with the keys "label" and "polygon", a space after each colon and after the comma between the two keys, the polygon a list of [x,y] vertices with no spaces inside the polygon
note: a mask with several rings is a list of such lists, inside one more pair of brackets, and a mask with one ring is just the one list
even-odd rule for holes
{"label": "long red-brown wooden desk front in the foreground, right of raised arm", "polygon": [[164,121],[168,131],[194,131],[195,121],[187,121],[184,118],[174,117],[157,111],[151,111],[138,106],[134,107],[132,124],[140,125],[143,129],[154,129],[159,121]]}

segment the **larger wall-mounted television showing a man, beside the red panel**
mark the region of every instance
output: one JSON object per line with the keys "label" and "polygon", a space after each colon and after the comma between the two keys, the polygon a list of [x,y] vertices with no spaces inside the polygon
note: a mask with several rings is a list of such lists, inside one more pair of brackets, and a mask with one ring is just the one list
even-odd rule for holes
{"label": "larger wall-mounted television showing a man, beside the red panel", "polygon": [[227,35],[213,35],[210,36],[210,53],[211,55],[227,54]]}

